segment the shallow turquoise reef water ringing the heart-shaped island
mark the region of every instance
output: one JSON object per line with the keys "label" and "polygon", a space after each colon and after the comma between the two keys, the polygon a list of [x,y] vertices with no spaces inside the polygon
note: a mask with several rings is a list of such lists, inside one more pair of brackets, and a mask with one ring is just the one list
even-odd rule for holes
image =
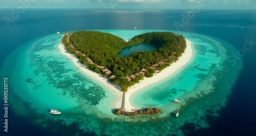
{"label": "shallow turquoise reef water ringing the heart-shaped island", "polygon": [[[124,40],[146,32],[168,30],[96,30],[111,33]],[[175,32],[175,31],[172,31]],[[218,117],[218,110],[225,106],[226,97],[238,76],[242,64],[230,67],[230,72],[216,83],[216,71],[221,70],[225,60],[235,49],[228,43],[193,33],[179,33],[192,42],[193,59],[176,72],[158,83],[134,94],[132,104],[138,108],[158,107],[159,114],[135,117],[112,114],[117,100],[110,89],[77,70],[71,60],[58,48],[61,34],[53,34],[26,43],[9,58],[13,62],[10,82],[18,97],[29,104],[36,120],[32,124],[48,129],[53,122],[70,125],[77,123],[84,132],[96,134],[179,134],[186,129],[184,124],[194,122],[196,128],[205,128],[206,113]],[[224,48],[225,46],[225,48]],[[8,61],[8,59],[7,59]],[[6,65],[6,64],[4,64]],[[8,65],[10,67],[10,65]],[[8,66],[5,66],[8,69]],[[181,103],[173,103],[178,98]],[[29,118],[24,103],[10,99],[15,104],[15,113]],[[61,116],[47,114],[50,108],[62,112]],[[179,118],[175,113],[179,109]],[[42,116],[41,116],[42,115]],[[56,126],[55,126],[56,127]]]}

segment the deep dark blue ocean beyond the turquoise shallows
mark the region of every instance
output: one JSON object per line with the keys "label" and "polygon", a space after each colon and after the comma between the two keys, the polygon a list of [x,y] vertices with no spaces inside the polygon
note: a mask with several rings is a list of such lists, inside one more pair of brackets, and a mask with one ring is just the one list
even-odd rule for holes
{"label": "deep dark blue ocean beyond the turquoise shallows", "polygon": [[[207,111],[209,114],[204,116],[208,127],[196,129],[195,124],[185,123],[182,127],[179,127],[177,131],[181,131],[184,135],[256,135],[256,131],[254,130],[256,128],[256,10],[201,10],[195,17],[189,19],[189,22],[183,25],[184,27],[177,30],[175,22],[182,22],[182,14],[185,14],[187,11],[190,10],[159,9],[154,11],[113,11],[107,9],[26,9],[25,13],[20,14],[19,17],[8,26],[4,17],[10,17],[12,11],[11,9],[0,9],[1,79],[4,82],[4,77],[13,77],[10,73],[15,73],[12,71],[13,69],[8,70],[4,67],[4,63],[5,65],[7,64],[6,59],[13,51],[14,53],[25,49],[31,51],[30,48],[33,47],[30,45],[31,43],[39,41],[43,37],[54,37],[52,35],[56,34],[56,32],[72,32],[78,30],[134,30],[136,27],[138,30],[169,30],[181,33],[184,32],[184,34],[194,33],[195,35],[199,34],[206,37],[218,38],[232,45],[232,47],[240,51],[240,53],[243,53],[242,57],[237,57],[237,61],[242,62],[242,68],[238,71],[237,75],[234,76],[234,84],[230,81],[231,91],[226,97],[227,101],[225,102],[225,106],[222,106],[220,110],[216,111],[219,116],[210,114],[212,112],[211,110]],[[58,37],[54,38],[58,39]],[[245,46],[250,48],[245,49]],[[228,47],[225,48],[228,49]],[[35,50],[36,48],[33,49]],[[232,57],[232,55],[238,53],[237,51],[231,50],[231,52],[228,52],[228,55]],[[29,57],[37,56],[32,55]],[[8,65],[13,65],[15,69],[19,69],[17,64],[27,61],[20,60],[19,58],[22,57],[12,56],[8,58]],[[231,60],[226,63],[233,64]],[[58,65],[62,66],[61,64]],[[234,69],[237,65],[228,65],[227,67]],[[225,77],[225,75],[231,72],[223,72],[223,76]],[[222,79],[219,81],[221,82]],[[90,81],[88,81],[88,83],[90,83]],[[49,85],[50,84],[52,83],[49,83]],[[93,81],[91,84],[93,84]],[[40,121],[37,120],[40,115],[36,115],[33,111],[36,109],[36,107],[32,106],[33,103],[30,103],[29,100],[24,101],[24,98],[20,98],[20,96],[22,96],[20,94],[23,93],[23,90],[20,89],[19,94],[14,93],[15,91],[13,90],[18,91],[18,85],[17,83],[9,83],[9,97],[10,99],[15,99],[16,103],[10,103],[8,108],[8,132],[5,132],[3,129],[5,112],[3,109],[4,92],[2,91],[2,93],[0,93],[2,104],[2,110],[0,111],[0,135],[97,134],[95,132],[96,130],[84,132],[82,128],[79,127],[80,122],[70,122],[70,124],[66,125],[57,118],[54,121],[46,118],[44,122],[50,123],[40,124]],[[4,90],[3,87],[2,90]],[[101,87],[99,86],[98,88]],[[221,88],[221,86],[216,86],[216,88]],[[206,98],[208,95],[204,97]],[[215,95],[215,97],[218,97],[218,95]],[[193,103],[200,103],[200,101],[203,100],[204,98],[194,99],[189,103],[193,106]],[[23,107],[17,107],[16,105],[23,105]],[[188,105],[184,107],[183,110],[185,111],[191,108],[193,107],[189,107]],[[20,112],[20,114],[17,114],[18,112]],[[26,116],[23,116],[22,114],[25,113]],[[161,121],[164,122],[164,120],[165,119],[152,122],[155,122],[157,125]],[[108,124],[108,122],[113,123],[108,119],[102,119],[100,121],[102,121],[102,124]],[[193,122],[193,120],[191,121]],[[32,122],[38,122],[38,124]],[[130,122],[127,124],[138,125],[138,127],[143,126],[143,123],[133,124]],[[113,128],[113,131],[114,129],[115,128]],[[147,128],[145,129],[148,130]],[[141,131],[143,131],[143,129],[141,129]],[[111,135],[113,133],[102,132],[101,134]],[[143,135],[143,133],[141,135]]]}

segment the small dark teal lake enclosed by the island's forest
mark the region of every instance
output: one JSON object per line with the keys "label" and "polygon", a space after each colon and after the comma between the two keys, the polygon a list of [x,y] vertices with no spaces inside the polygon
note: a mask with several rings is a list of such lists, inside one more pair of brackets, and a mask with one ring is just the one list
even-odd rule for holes
{"label": "small dark teal lake enclosed by the island's forest", "polygon": [[117,54],[121,57],[126,57],[126,56],[130,56],[131,53],[136,52],[136,51],[149,51],[149,50],[154,50],[156,49],[156,46],[152,45],[152,44],[148,44],[148,43],[138,43],[132,46],[127,46],[127,47],[123,47],[121,51],[118,51]]}

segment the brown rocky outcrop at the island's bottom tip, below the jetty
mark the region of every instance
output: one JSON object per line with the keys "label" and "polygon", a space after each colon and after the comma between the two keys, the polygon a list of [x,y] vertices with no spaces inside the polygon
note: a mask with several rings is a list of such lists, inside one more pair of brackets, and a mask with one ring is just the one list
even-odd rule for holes
{"label": "brown rocky outcrop at the island's bottom tip, below the jetty", "polygon": [[156,114],[159,111],[160,111],[159,108],[145,108],[144,110],[139,109],[139,110],[135,110],[133,112],[126,112],[124,109],[118,108],[118,109],[114,110],[113,113],[115,115],[135,116],[138,114]]}

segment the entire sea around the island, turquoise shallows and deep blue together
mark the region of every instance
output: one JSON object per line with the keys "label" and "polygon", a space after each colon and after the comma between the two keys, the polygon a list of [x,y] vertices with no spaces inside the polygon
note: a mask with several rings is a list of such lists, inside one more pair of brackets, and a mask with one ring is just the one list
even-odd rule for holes
{"label": "entire sea around the island, turquoise shallows and deep blue together", "polygon": [[[3,11],[3,16],[10,13]],[[97,11],[29,9],[9,28],[0,20],[6,32],[0,34],[5,50],[0,66],[1,77],[9,81],[8,135],[255,134],[256,87],[252,83],[256,72],[251,63],[256,59],[255,48],[243,50],[243,46],[256,41],[256,21],[248,17],[256,11],[202,10],[180,31],[174,22],[181,20],[181,10],[159,10],[159,14],[142,10],[142,15],[124,10],[114,12],[115,16],[111,10]],[[123,18],[126,14],[130,16]],[[116,116],[113,92],[60,53],[63,34],[56,32],[80,30],[110,33],[124,40],[147,32],[173,32],[191,41],[194,57],[172,76],[131,97],[135,107],[157,107],[160,113]],[[237,59],[234,53],[239,51],[245,53]],[[174,104],[175,98],[182,103]],[[50,115],[51,108],[62,114]]]}

